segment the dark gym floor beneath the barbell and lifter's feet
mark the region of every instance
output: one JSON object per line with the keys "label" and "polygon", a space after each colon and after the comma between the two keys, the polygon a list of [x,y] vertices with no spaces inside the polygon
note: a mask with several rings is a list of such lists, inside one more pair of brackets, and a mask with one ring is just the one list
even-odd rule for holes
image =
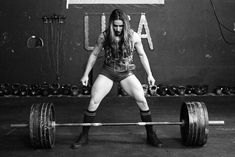
{"label": "dark gym floor beneath the barbell and lifter's feet", "polygon": [[[9,127],[11,123],[27,122],[31,104],[53,102],[57,123],[82,122],[88,97],[0,98],[1,157],[234,157],[235,97],[148,97],[154,121],[178,121],[183,101],[204,101],[210,120],[224,120],[225,126],[210,127],[204,147],[181,144],[179,126],[155,126],[162,148],[146,144],[142,126],[92,127],[89,145],[70,149],[81,128],[57,128],[56,144],[51,150],[36,150],[30,146],[28,130]],[[97,111],[95,122],[138,122],[139,110],[130,97],[106,97]]]}

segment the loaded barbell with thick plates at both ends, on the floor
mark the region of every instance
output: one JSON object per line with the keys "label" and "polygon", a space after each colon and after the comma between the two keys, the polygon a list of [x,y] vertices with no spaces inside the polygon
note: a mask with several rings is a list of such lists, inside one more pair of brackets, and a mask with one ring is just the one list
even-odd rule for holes
{"label": "loaded barbell with thick plates at both ends, on the floor", "polygon": [[187,146],[203,146],[207,142],[209,125],[224,125],[224,121],[209,121],[204,102],[183,102],[179,122],[136,122],[136,123],[56,123],[53,103],[36,103],[31,106],[28,124],[11,124],[11,127],[29,128],[34,148],[50,149],[55,145],[56,127],[76,126],[144,126],[179,125],[182,143]]}

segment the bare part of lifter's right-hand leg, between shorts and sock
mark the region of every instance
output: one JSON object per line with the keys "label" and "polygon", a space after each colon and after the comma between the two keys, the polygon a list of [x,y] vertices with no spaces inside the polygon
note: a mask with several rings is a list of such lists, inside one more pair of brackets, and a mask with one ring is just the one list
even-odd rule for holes
{"label": "bare part of lifter's right-hand leg, between shorts and sock", "polygon": [[120,84],[127,94],[135,99],[142,111],[149,110],[143,87],[135,75],[128,76]]}

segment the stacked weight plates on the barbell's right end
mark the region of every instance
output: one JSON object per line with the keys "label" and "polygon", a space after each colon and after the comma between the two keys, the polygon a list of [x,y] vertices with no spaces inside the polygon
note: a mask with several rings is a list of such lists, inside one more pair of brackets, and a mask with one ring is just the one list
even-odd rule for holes
{"label": "stacked weight plates on the barbell's right end", "polygon": [[203,102],[184,102],[181,107],[180,126],[181,138],[184,145],[203,146],[207,142],[208,112]]}

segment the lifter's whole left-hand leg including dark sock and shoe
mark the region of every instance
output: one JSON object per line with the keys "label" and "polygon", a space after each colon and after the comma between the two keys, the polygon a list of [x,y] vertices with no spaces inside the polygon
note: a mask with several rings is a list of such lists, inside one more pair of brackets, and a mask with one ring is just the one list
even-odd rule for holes
{"label": "lifter's whole left-hand leg including dark sock and shoe", "polygon": [[[108,94],[113,86],[113,81],[104,75],[99,75],[91,89],[91,99],[87,111],[84,113],[83,123],[92,123],[95,119],[96,110],[102,99]],[[90,126],[84,126],[82,133],[75,143],[72,144],[73,149],[80,148],[88,143],[88,132]]]}

